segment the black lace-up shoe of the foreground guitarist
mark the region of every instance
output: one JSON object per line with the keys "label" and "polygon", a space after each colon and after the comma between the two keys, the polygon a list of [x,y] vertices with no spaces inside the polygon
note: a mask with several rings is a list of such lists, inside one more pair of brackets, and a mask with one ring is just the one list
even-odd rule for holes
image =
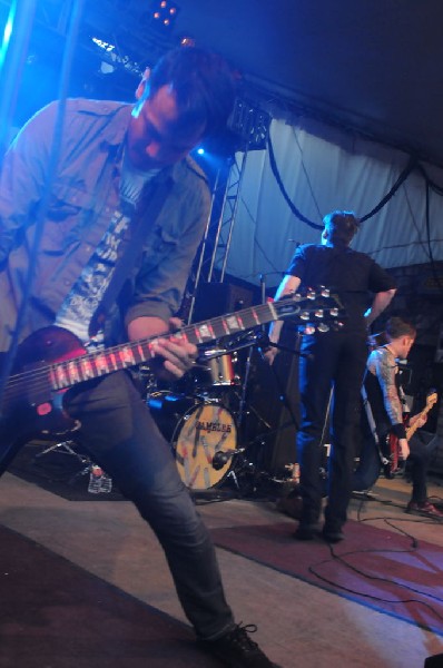
{"label": "black lace-up shoe of the foreground guitarist", "polygon": [[239,623],[222,638],[199,640],[199,645],[229,668],[278,668],[248,637],[248,633],[255,633],[256,630],[255,623]]}

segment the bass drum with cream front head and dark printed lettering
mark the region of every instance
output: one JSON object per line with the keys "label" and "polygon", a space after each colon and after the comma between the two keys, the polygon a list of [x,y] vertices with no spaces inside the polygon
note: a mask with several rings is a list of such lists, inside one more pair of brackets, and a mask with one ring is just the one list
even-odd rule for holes
{"label": "bass drum with cream front head and dark printed lettering", "polygon": [[217,452],[237,448],[232,413],[217,402],[155,392],[148,401],[161,433],[170,442],[181,480],[190,490],[207,490],[227,477],[233,458],[214,468]]}

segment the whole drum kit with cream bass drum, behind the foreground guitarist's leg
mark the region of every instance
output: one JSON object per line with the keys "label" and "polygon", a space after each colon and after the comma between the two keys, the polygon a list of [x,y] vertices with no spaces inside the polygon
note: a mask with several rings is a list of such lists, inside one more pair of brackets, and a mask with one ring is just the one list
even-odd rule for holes
{"label": "whole drum kit with cream bass drum, behind the foreground guitarist's leg", "polygon": [[238,472],[254,468],[245,456],[248,449],[239,446],[248,412],[242,366],[245,361],[238,351],[217,347],[205,351],[174,387],[158,389],[152,379],[148,382],[147,404],[191,492],[219,490],[228,480],[238,490]]}

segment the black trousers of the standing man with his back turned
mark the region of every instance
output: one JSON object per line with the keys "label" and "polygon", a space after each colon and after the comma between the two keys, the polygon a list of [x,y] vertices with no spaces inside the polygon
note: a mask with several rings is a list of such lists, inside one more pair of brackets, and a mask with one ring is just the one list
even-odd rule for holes
{"label": "black trousers of the standing man with his back turned", "polygon": [[326,332],[304,336],[299,390],[302,423],[297,434],[303,497],[302,523],[318,520],[322,508],[319,478],[322,434],[331,391],[331,455],[328,466],[328,529],[339,530],[347,518],[352,493],[354,434],[360,418],[360,391],[367,358],[365,332]]}

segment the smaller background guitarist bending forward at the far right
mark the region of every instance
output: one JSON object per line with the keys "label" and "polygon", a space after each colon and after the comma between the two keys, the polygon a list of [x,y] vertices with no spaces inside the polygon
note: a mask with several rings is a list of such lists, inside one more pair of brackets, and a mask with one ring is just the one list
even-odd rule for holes
{"label": "smaller background guitarist bending forward at the far right", "polygon": [[[425,412],[404,421],[404,392],[401,386],[398,360],[406,360],[416,336],[415,327],[400,317],[386,323],[385,345],[375,347],[368,356],[363,389],[365,407],[362,413],[363,450],[354,473],[354,491],[367,490],[378,478],[381,456],[391,440],[393,453],[405,460],[412,478],[412,498],[406,512],[442,517],[427,499],[426,470],[430,448],[415,439],[407,440],[407,431],[426,422]],[[432,405],[432,404],[431,404]],[[390,465],[390,464],[388,464]]]}

